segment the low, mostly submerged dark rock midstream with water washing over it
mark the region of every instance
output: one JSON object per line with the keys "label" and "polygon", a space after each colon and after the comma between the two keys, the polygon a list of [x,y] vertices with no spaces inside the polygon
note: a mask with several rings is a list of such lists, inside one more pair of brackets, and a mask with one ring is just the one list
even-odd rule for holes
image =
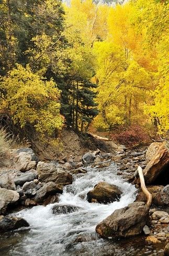
{"label": "low, mostly submerged dark rock midstream with water washing over it", "polygon": [[54,205],[52,207],[52,213],[53,214],[69,214],[78,212],[78,210],[81,210],[81,207],[78,207],[76,205]]}

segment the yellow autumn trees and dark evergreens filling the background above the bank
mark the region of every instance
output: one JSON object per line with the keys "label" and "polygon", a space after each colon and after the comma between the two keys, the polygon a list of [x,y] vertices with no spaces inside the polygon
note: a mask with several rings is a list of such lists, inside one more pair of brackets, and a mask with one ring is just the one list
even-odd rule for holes
{"label": "yellow autumn trees and dark evergreens filling the background above the bank", "polygon": [[169,129],[169,3],[0,1],[1,123]]}

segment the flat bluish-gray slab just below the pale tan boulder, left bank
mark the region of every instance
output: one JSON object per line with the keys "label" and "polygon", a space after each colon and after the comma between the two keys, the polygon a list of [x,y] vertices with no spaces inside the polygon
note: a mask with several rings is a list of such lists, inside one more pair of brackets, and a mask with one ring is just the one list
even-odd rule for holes
{"label": "flat bluish-gray slab just below the pale tan boulder, left bank", "polygon": [[30,170],[25,173],[21,173],[19,176],[15,177],[14,182],[16,185],[22,186],[27,181],[33,181],[38,178],[38,172],[36,170]]}

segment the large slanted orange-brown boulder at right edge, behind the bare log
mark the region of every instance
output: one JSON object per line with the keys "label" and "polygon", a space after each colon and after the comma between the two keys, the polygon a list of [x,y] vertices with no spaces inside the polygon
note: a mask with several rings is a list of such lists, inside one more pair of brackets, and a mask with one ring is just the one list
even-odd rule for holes
{"label": "large slanted orange-brown boulder at right edge, behind the bare log", "polygon": [[[169,148],[168,143],[164,141],[154,157],[143,170],[146,184],[168,184],[169,182]],[[137,179],[137,184],[140,179]]]}

